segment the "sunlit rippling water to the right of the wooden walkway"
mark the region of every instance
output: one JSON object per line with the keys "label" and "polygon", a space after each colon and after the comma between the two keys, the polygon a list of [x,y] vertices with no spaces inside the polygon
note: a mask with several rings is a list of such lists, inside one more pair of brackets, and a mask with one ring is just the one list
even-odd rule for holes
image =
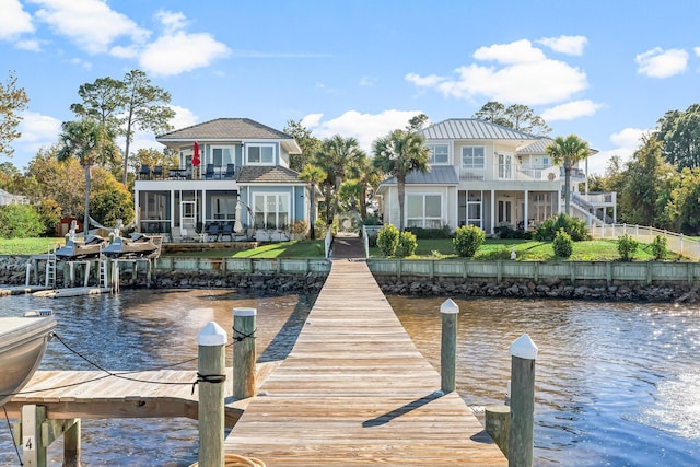
{"label": "sunlit rippling water to the right of the wooden walkway", "polygon": [[[419,350],[440,366],[444,299],[392,296]],[[457,388],[476,411],[502,404],[509,347],[528,334],[536,366],[537,465],[700,464],[700,308],[468,300]]]}

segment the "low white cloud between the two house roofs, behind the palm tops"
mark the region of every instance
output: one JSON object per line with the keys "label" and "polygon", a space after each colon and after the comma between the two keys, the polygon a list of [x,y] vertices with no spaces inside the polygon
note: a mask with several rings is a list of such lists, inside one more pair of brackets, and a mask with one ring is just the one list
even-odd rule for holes
{"label": "low white cloud between the two house roofs, behind the palm tops", "polygon": [[334,135],[355,138],[360,147],[371,155],[375,139],[397,128],[406,128],[408,120],[420,113],[419,110],[384,110],[381,114],[361,114],[357,110],[348,110],[326,121],[323,121],[323,114],[310,114],[301,121],[314,132],[316,138],[324,139]]}

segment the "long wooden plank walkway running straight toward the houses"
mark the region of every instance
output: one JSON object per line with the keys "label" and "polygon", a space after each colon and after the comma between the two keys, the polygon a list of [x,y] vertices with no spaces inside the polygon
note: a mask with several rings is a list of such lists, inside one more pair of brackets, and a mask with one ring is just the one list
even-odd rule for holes
{"label": "long wooden plank walkway running straight toward the houses", "polygon": [[225,452],[267,466],[508,465],[459,395],[440,384],[366,264],[335,260],[292,352],[252,398]]}

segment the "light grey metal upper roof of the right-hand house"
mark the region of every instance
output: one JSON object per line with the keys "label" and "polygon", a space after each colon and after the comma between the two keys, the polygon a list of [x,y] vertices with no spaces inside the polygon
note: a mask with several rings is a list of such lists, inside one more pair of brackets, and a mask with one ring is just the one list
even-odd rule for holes
{"label": "light grey metal upper roof of the right-hand house", "polygon": [[477,118],[451,118],[419,131],[427,140],[535,140],[537,137]]}

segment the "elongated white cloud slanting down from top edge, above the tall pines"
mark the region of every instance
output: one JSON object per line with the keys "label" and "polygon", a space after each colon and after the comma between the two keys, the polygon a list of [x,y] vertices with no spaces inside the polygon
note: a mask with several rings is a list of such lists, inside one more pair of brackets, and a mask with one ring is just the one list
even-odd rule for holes
{"label": "elongated white cloud slanting down from top edge, above the tall pines", "polygon": [[36,17],[90,54],[101,54],[121,37],[143,43],[150,32],[102,0],[33,0],[40,5]]}

